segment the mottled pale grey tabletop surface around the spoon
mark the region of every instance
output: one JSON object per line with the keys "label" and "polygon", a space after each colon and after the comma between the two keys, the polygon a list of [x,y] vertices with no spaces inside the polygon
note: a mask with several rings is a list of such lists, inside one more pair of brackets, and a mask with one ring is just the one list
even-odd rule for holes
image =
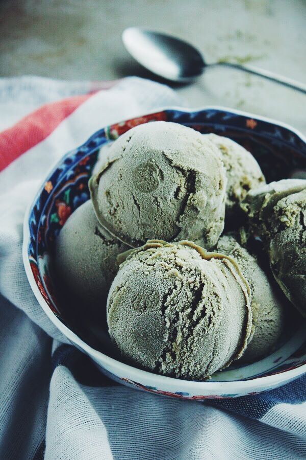
{"label": "mottled pale grey tabletop surface around the spoon", "polygon": [[[306,81],[304,0],[4,0],[0,76],[104,80],[147,76],[125,52],[125,27],[187,39],[208,62],[248,62]],[[176,87],[190,107],[222,105],[306,132],[306,96],[234,70],[208,70]]]}

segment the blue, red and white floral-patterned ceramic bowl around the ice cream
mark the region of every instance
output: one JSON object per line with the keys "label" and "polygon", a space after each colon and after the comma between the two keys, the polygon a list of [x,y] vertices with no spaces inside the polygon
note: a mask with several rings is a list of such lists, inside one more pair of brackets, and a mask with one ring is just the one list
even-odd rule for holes
{"label": "blue, red and white floral-patterned ceramic bowl around the ice cream", "polygon": [[170,108],[107,126],[79,148],[68,152],[48,174],[24,220],[23,262],[29,282],[42,309],[54,325],[100,370],[115,381],[151,393],[203,400],[251,395],[288,383],[306,372],[305,321],[288,325],[276,350],[249,365],[232,365],[209,381],[187,381],[145,372],[112,354],[106,336],[90,328],[86,308],[69,309],[59,300],[52,274],[56,238],[66,219],[89,199],[88,179],[99,149],[141,123],[164,120],[190,126],[202,133],[230,137],[258,160],[267,181],[305,177],[306,140],[290,126],[224,108],[201,110]]}

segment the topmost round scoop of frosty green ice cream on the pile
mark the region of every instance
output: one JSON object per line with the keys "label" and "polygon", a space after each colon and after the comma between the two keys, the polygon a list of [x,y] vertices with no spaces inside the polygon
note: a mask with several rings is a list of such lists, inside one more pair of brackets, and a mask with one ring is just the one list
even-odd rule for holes
{"label": "topmost round scoop of frosty green ice cream on the pile", "polygon": [[170,122],[137,126],[116,140],[89,182],[96,216],[132,247],[189,239],[213,247],[224,226],[226,176],[219,150]]}

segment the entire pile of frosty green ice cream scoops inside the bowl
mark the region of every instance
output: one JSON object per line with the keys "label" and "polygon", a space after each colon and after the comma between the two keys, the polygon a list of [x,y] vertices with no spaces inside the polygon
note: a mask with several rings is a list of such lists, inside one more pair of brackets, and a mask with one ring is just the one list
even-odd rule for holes
{"label": "entire pile of frosty green ice cream scoops inside the bowl", "polygon": [[110,335],[143,369],[205,379],[233,360],[268,354],[283,331],[284,305],[256,257],[231,236],[219,240],[225,205],[232,217],[241,203],[277,282],[302,310],[306,181],[262,186],[241,146],[169,122],[135,127],[105,149],[91,201],[58,237],[67,287],[98,308],[109,291]]}

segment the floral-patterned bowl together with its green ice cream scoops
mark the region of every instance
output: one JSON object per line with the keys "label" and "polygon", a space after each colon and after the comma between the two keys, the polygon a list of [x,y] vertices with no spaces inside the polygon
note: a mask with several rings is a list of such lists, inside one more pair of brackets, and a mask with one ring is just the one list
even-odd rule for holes
{"label": "floral-patterned bowl together with its green ice cream scoops", "polygon": [[[129,131],[157,121],[170,122],[167,139],[161,125],[152,123],[146,142],[151,142],[154,155],[135,156],[135,151],[143,152],[142,131],[137,130],[133,142]],[[192,141],[186,141],[184,130],[170,129],[173,123],[193,128]],[[220,144],[220,136],[230,140]],[[115,140],[117,150],[109,148]],[[253,155],[246,165],[243,152],[238,152],[233,167],[231,140]],[[173,155],[184,148],[189,155]],[[227,180],[217,148],[224,150]],[[48,174],[25,216],[23,261],[41,307],[102,372],[152,393],[197,400],[230,398],[302,375],[305,321],[296,317],[294,307],[291,312],[284,295],[285,262],[295,260],[300,229],[285,261],[279,254],[287,247],[286,233],[279,242],[273,234],[265,243],[276,281],[242,247],[235,232],[220,238],[224,213],[225,221],[233,220],[239,201],[245,200],[246,214],[252,218],[246,195],[253,187],[265,186],[261,170],[267,182],[304,177],[302,134],[222,108],[166,109],[94,133]],[[281,208],[289,205],[280,203],[277,216],[269,221],[279,217],[284,224]],[[294,209],[289,217],[297,214]],[[65,257],[57,247],[68,248]],[[117,256],[119,271],[114,265]],[[97,275],[100,261],[103,269]],[[292,286],[298,275],[293,267]],[[250,296],[250,289],[256,295]],[[301,302],[294,303],[299,307]],[[253,330],[258,304],[264,304],[265,315]],[[166,320],[161,322],[161,316]]]}

